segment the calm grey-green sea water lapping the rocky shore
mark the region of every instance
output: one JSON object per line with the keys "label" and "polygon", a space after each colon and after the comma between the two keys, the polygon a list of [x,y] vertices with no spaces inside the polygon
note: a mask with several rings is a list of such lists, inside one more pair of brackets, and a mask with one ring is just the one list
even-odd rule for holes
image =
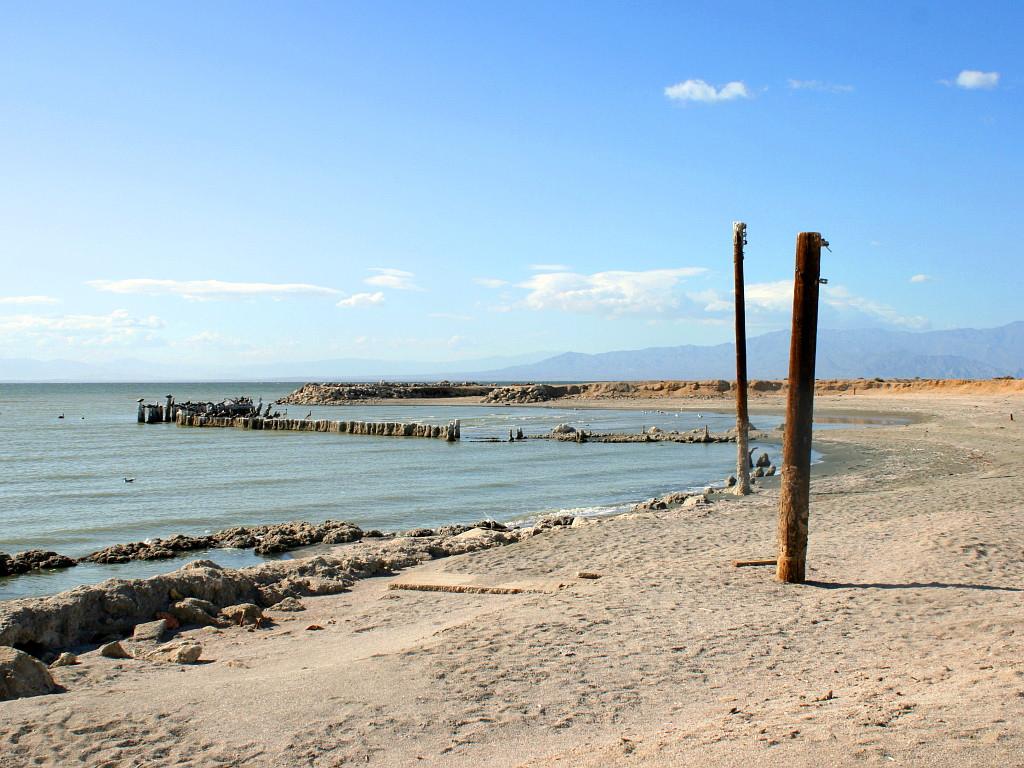
{"label": "calm grey-green sea water lapping the rocky shore", "polygon": [[[734,424],[725,414],[452,406],[289,407],[290,416],[359,421],[461,419],[461,442],[135,423],[135,401],[249,394],[271,401],[292,384],[0,384],[0,551],[82,556],[111,544],[231,525],[319,521],[401,529],[485,517],[511,521],[558,510],[609,514],[636,501],[721,481],[733,444],[475,442],[565,422],[639,431]],[[63,414],[63,419],[57,417]],[[771,428],[778,418],[758,417]],[[779,464],[777,446],[764,445]],[[125,477],[134,477],[125,483]],[[191,557],[199,556],[193,553]],[[241,566],[262,558],[213,550]],[[48,594],[180,561],[80,565],[0,579],[0,599]]]}

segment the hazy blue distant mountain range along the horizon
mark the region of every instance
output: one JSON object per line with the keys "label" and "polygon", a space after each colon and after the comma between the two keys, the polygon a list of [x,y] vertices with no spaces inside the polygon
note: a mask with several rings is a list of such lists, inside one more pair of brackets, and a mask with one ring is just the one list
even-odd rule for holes
{"label": "hazy blue distant mountain range along the horizon", "polygon": [[[748,340],[752,379],[786,376],[790,334],[778,331]],[[0,360],[0,381],[376,381],[378,379],[475,381],[616,381],[731,379],[731,343],[648,347],[598,354],[565,352],[480,358],[460,362],[394,362],[335,359],[184,369],[143,360],[87,364],[72,360]],[[863,330],[818,332],[817,377],[845,379],[988,379],[1024,377],[1024,322],[990,329],[911,333]]]}

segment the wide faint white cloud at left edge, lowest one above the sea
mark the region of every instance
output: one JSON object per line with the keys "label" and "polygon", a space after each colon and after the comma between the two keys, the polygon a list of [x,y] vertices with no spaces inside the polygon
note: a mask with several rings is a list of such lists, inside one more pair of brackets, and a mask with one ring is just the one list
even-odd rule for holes
{"label": "wide faint white cloud at left edge, lowest one above the sea", "polygon": [[26,337],[70,346],[108,346],[152,339],[164,327],[156,315],[133,317],[126,309],[110,314],[12,314],[0,317],[0,337]]}

